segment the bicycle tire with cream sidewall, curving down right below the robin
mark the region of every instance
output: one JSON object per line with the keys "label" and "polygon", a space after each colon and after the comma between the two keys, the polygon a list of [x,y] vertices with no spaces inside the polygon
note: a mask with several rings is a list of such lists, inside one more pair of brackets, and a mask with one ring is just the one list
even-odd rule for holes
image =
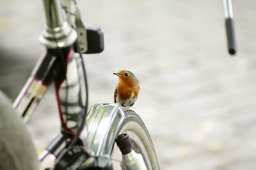
{"label": "bicycle tire with cream sidewall, curving down right below the robin", "polygon": [[[122,107],[125,118],[120,126],[118,134],[127,133],[131,139],[132,148],[136,153],[141,153],[147,169],[160,169],[156,151],[147,131],[147,127],[140,116],[129,108]],[[113,150],[117,146],[113,147]]]}

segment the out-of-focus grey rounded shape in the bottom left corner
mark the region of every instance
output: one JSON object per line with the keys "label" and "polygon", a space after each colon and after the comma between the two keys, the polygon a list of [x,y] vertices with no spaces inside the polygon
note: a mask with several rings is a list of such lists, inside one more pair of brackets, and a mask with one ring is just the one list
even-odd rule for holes
{"label": "out-of-focus grey rounded shape in the bottom left corner", "polygon": [[39,162],[29,132],[1,90],[0,101],[0,169],[38,169]]}

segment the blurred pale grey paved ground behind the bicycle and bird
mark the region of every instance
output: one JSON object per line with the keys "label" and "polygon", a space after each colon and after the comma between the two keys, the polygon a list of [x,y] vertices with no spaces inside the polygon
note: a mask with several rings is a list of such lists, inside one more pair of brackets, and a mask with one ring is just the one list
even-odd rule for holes
{"label": "blurred pale grey paved ground behind the bicycle and bird", "polygon": [[[79,0],[105,50],[84,55],[90,105],[112,103],[132,71],[132,107],[154,141],[161,169],[256,169],[256,1],[233,1],[237,55],[227,52],[221,0]],[[44,53],[42,1],[1,0],[0,88],[14,101]],[[40,153],[60,132],[50,87],[28,123]]]}

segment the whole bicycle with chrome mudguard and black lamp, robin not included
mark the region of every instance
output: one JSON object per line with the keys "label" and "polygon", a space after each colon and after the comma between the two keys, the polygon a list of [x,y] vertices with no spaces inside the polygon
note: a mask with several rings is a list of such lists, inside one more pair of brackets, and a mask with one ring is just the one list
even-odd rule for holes
{"label": "whole bicycle with chrome mudguard and black lamp, robin not included", "polygon": [[[124,133],[129,135],[133,150],[142,155],[141,164],[147,169],[159,169],[147,128],[134,111],[115,103],[94,104],[88,111],[82,53],[102,52],[101,29],[84,27],[74,0],[63,0],[62,4],[59,0],[44,0],[44,10],[47,24],[40,42],[47,51],[13,103],[27,122],[49,85],[55,85],[61,133],[40,155],[41,169],[113,169],[113,150],[118,150],[115,139]],[[0,160],[6,160],[0,167],[38,169],[26,127],[10,107],[10,101],[1,93],[0,97],[3,101],[0,129],[4,136],[0,139],[4,153]],[[17,140],[20,145],[15,145]]]}

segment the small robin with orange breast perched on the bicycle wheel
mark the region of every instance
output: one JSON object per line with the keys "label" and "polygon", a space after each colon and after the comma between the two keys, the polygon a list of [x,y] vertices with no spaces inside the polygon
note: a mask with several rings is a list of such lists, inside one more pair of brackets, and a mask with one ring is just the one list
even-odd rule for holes
{"label": "small robin with orange breast perched on the bicycle wheel", "polygon": [[119,78],[114,93],[114,102],[124,107],[131,107],[138,98],[140,90],[138,79],[131,71],[121,70],[113,74]]}

